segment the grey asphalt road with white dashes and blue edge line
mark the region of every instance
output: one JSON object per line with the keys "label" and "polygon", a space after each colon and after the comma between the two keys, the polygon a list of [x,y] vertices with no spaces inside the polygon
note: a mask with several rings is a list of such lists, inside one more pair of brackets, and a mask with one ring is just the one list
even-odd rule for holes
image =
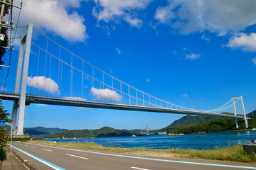
{"label": "grey asphalt road with white dashes and blue edge line", "polygon": [[13,149],[38,169],[93,169],[93,170],[165,170],[165,169],[256,169],[256,164],[220,162],[203,159],[142,157],[131,154],[91,152],[82,149],[47,147],[13,142]]}

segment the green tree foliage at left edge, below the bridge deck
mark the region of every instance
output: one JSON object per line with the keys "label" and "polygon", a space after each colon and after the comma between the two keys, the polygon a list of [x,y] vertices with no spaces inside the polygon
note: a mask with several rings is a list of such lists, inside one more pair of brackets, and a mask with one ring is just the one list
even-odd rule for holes
{"label": "green tree foliage at left edge, below the bridge deck", "polygon": [[[11,122],[9,120],[8,115],[10,113],[7,113],[6,109],[2,105],[0,101],[0,120],[5,120],[6,122]],[[6,129],[0,129],[0,160],[6,159],[6,143],[9,135],[7,133]]]}

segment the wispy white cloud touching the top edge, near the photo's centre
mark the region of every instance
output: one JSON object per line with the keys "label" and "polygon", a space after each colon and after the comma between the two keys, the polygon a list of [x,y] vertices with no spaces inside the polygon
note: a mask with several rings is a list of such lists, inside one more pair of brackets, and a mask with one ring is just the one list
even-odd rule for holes
{"label": "wispy white cloud touching the top edge, near the photo's centre", "polygon": [[97,6],[92,9],[92,15],[97,21],[119,22],[124,20],[136,28],[142,27],[137,10],[144,9],[151,0],[94,0]]}

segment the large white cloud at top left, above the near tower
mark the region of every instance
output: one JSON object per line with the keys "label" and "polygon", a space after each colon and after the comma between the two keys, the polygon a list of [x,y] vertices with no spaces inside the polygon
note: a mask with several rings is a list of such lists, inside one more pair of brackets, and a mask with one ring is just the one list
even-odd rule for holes
{"label": "large white cloud at top left, above the near tower", "polygon": [[65,40],[85,41],[88,35],[84,18],[73,10],[80,7],[80,1],[25,0],[19,25],[33,23],[36,28],[44,28]]}

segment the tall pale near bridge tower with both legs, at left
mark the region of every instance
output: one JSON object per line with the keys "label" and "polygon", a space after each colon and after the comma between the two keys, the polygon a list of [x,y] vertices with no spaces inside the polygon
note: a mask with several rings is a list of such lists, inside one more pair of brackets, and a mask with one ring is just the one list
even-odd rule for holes
{"label": "tall pale near bridge tower with both legs, at left", "polygon": [[[16,80],[14,93],[19,94],[20,98],[18,101],[14,101],[13,111],[11,115],[12,127],[16,129],[17,111],[18,111],[18,126],[16,129],[16,135],[23,135],[24,125],[24,113],[25,113],[25,102],[26,102],[26,85],[28,77],[28,62],[31,50],[31,39],[33,32],[33,24],[29,23],[26,31],[21,36],[21,44],[18,52],[18,64],[16,71]],[[21,75],[22,73],[22,75]]]}

